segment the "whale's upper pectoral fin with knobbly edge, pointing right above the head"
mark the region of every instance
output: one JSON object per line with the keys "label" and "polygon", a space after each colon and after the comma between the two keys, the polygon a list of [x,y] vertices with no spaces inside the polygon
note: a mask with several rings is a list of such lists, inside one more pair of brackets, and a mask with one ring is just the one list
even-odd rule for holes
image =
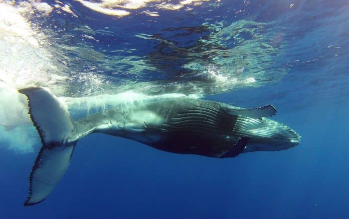
{"label": "whale's upper pectoral fin with knobbly edge, pointing right above the head", "polygon": [[232,116],[245,116],[258,119],[274,116],[276,114],[276,109],[272,105],[266,105],[251,109],[228,109],[227,112]]}

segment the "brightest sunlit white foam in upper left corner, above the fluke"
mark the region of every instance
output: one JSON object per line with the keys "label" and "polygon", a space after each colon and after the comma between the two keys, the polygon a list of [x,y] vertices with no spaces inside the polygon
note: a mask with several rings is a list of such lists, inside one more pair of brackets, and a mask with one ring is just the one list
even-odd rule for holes
{"label": "brightest sunlit white foam in upper left corner, above the fluke", "polygon": [[[44,14],[49,5],[36,4]],[[45,36],[36,32],[22,15],[31,11],[32,5],[20,6],[0,3],[0,79],[14,88],[46,84],[57,72],[51,55],[45,49]],[[52,81],[51,81],[52,82]]]}

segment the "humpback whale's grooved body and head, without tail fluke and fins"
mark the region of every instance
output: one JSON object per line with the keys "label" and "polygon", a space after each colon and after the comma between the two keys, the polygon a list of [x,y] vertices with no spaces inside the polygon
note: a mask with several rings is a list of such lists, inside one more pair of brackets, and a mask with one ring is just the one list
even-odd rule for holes
{"label": "humpback whale's grooved body and head, without tail fluke and fins", "polygon": [[245,136],[249,143],[242,152],[282,150],[299,144],[300,136],[289,127],[267,118],[230,115],[229,111],[234,109],[241,108],[189,98],[136,104],[126,110],[112,109],[77,121],[75,138],[81,138],[86,128],[98,127],[94,132],[132,139],[169,152],[211,157],[219,157]]}

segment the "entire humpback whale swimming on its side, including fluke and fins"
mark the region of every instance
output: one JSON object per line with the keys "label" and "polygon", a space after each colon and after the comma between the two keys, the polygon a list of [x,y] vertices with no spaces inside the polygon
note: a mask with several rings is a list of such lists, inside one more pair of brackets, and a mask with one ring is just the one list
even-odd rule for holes
{"label": "entire humpback whale swimming on its side, including fluke and fins", "polygon": [[272,105],[244,109],[189,97],[130,100],[128,104],[73,121],[66,105],[43,87],[19,90],[42,147],[29,177],[24,206],[42,202],[66,171],[79,139],[104,133],[154,148],[216,158],[252,151],[283,150],[300,143],[291,128],[267,119]]}

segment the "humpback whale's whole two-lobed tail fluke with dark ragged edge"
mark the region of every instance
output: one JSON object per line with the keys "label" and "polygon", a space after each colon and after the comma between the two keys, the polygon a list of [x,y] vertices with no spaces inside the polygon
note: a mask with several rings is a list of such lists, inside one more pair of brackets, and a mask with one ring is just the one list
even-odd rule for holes
{"label": "humpback whale's whole two-lobed tail fluke with dark ragged edge", "polygon": [[29,114],[42,147],[29,177],[29,196],[24,205],[42,202],[66,171],[76,141],[67,136],[74,124],[65,104],[42,87],[19,90],[28,98]]}

